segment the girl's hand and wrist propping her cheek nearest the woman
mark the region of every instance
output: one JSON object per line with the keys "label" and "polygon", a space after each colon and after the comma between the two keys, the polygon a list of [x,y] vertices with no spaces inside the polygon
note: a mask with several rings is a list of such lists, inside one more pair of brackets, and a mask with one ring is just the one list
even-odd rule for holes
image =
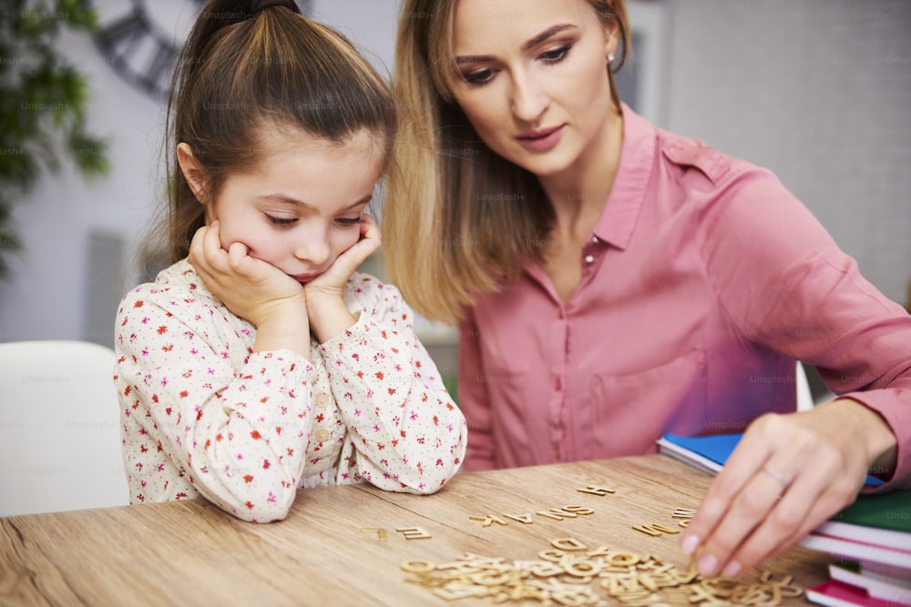
{"label": "girl's hand and wrist propping her cheek nearest the woman", "polygon": [[344,286],[354,270],[378,248],[380,229],[374,218],[363,214],[358,241],[336,258],[329,269],[304,285],[313,335],[320,343],[332,339],[357,322],[344,305]]}

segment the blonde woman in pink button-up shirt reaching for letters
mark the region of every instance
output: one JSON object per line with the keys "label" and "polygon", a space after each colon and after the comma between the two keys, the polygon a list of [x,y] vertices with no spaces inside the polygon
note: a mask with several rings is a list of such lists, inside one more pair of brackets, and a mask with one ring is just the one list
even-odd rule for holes
{"label": "blonde woman in pink button-up shirt reaching for letters", "polygon": [[[622,0],[402,10],[384,230],[409,243],[386,261],[416,309],[459,319],[466,470],[749,426],[682,539],[728,576],[868,469],[911,485],[911,319],[767,171],[620,101]],[[793,412],[796,360],[840,398]]]}

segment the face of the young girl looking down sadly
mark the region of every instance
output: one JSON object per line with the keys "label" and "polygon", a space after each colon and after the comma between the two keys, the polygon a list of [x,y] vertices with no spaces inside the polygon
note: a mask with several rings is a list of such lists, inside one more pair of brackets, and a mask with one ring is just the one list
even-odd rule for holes
{"label": "face of the young girl looking down sadly", "polygon": [[258,166],[230,175],[208,203],[207,221],[218,220],[225,250],[241,242],[251,257],[307,282],[360,238],[384,149],[366,131],[334,144],[277,127],[263,129],[261,146]]}

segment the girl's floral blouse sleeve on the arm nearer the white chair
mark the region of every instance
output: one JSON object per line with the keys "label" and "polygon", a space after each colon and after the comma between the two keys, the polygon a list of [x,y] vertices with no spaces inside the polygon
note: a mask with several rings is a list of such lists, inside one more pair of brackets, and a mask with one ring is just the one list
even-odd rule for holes
{"label": "girl's floral blouse sleeve on the arm nearer the white chair", "polygon": [[281,520],[302,474],[315,372],[288,350],[230,352],[220,328],[205,320],[220,314],[227,312],[168,288],[147,285],[124,298],[121,413],[146,418],[134,420],[141,435],[127,438],[138,444],[125,442],[125,459],[129,467],[131,451],[163,450],[222,510],[245,521]]}

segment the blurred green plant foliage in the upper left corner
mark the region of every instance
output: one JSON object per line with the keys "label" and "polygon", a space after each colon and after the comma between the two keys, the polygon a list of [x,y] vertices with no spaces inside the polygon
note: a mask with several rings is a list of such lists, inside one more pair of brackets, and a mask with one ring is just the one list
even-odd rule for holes
{"label": "blurred green plant foliage in the upper left corner", "polygon": [[85,178],[107,173],[107,141],[85,132],[88,82],[57,44],[62,28],[92,32],[84,0],[4,0],[0,8],[0,278],[22,248],[12,209],[42,175],[71,160]]}

